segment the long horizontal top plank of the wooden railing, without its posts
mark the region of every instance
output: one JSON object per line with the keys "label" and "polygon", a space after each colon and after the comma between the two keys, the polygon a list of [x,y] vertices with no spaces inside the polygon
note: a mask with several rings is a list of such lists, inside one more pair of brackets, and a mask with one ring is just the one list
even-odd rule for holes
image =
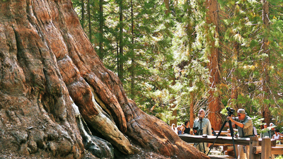
{"label": "long horizontal top plank of the wooden railing, without its posts", "polygon": [[[180,134],[178,135],[180,139],[183,141],[186,141],[187,143],[214,143],[216,136],[194,136],[189,134]],[[236,145],[250,145],[250,138],[240,138],[236,137],[234,138]],[[261,144],[262,139],[258,139],[259,143]],[[221,143],[221,144],[233,144],[233,140],[231,136],[219,136],[215,143]],[[275,139],[271,139],[272,146],[276,146]]]}

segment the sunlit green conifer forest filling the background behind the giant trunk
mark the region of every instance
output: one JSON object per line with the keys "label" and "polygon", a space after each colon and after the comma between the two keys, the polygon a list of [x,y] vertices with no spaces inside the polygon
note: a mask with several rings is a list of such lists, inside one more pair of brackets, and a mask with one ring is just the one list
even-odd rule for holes
{"label": "sunlit green conifer forest filling the background behind the giant trunk", "polygon": [[282,0],[72,1],[103,64],[147,114],[171,125],[200,108],[224,119],[233,107],[283,126]]}

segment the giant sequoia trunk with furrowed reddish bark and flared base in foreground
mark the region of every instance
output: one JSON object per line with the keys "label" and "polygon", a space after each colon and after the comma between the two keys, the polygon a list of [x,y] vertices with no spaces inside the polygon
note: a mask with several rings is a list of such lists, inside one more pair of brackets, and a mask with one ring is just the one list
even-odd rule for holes
{"label": "giant sequoia trunk with furrowed reddish bark and flared base in foreground", "polygon": [[142,146],[207,158],[127,99],[71,0],[1,1],[0,46],[0,153],[83,158],[88,150],[93,158],[114,158]]}

